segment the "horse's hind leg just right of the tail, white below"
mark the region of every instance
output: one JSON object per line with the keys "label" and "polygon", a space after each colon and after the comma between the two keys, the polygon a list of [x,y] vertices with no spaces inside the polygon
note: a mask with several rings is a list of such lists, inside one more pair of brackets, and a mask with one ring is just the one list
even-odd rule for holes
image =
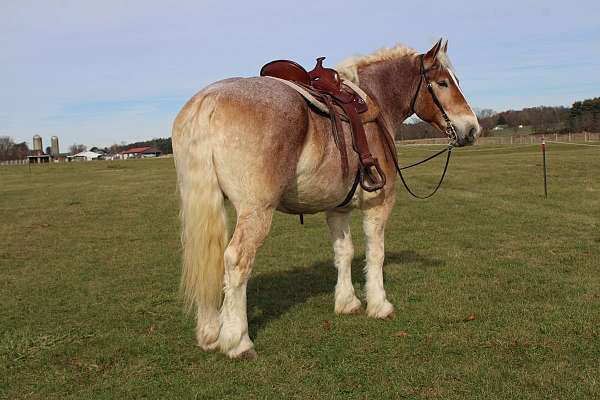
{"label": "horse's hind leg just right of the tail, white below", "polygon": [[246,285],[256,251],[267,237],[272,219],[270,207],[238,209],[235,231],[225,250],[225,297],[219,348],[231,358],[256,355],[248,336]]}

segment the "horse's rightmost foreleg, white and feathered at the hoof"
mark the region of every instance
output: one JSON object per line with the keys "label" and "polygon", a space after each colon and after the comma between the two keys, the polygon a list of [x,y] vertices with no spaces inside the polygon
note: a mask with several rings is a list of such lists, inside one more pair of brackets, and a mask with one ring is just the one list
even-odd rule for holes
{"label": "horse's rightmost foreleg, white and feathered at the hoof", "polygon": [[385,224],[393,207],[393,199],[365,209],[363,230],[367,240],[365,266],[367,315],[374,318],[391,318],[394,306],[387,300],[383,288],[383,260]]}

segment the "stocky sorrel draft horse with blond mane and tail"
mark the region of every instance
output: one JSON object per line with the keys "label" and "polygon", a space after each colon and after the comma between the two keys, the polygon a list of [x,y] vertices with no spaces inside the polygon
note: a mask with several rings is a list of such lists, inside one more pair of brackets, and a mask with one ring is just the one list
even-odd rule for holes
{"label": "stocky sorrel draft horse with blond mane and tail", "polygon": [[[325,212],[338,271],[338,314],[361,308],[351,281],[349,220],[353,209],[362,210],[366,313],[381,319],[393,315],[382,267],[384,228],[395,201],[395,170],[383,135],[395,132],[413,113],[441,131],[453,125],[457,146],[472,144],[480,130],[448,59],[447,45],[440,39],[425,54],[398,45],[337,67],[377,104],[387,129],[368,122],[365,131],[371,153],[390,177],[375,192],[359,187],[343,207],[354,177],[342,174],[330,118],[315,112],[294,89],[267,77],[230,78],[207,86],[187,102],[175,119],[172,139],[181,195],[181,287],[188,309],[196,312],[202,349],[220,350],[232,358],[256,355],[248,336],[246,285],[275,210]],[[348,166],[356,171],[358,156],[351,151],[348,124],[343,125]],[[237,213],[231,239],[225,199]]]}

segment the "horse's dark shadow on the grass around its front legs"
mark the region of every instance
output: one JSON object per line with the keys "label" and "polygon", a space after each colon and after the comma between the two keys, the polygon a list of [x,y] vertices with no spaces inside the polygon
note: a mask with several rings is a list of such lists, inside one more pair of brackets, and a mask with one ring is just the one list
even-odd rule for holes
{"label": "horse's dark shadow on the grass around its front legs", "polygon": [[[421,268],[439,267],[444,264],[441,260],[424,257],[410,250],[386,254],[386,268],[390,268],[390,264],[406,263],[417,263]],[[362,257],[354,257],[353,282],[363,279],[363,265]],[[394,267],[397,268],[398,265]],[[269,321],[280,317],[296,304],[302,304],[323,293],[331,293],[333,297],[336,279],[337,273],[332,259],[317,262],[308,268],[270,272],[250,279],[248,284],[250,335],[256,336]],[[333,310],[333,304],[331,308]]]}

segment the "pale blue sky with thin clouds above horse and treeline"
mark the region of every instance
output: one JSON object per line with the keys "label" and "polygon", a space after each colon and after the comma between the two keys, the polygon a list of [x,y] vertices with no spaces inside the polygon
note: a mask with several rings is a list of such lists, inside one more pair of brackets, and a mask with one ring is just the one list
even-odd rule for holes
{"label": "pale blue sky with thin clouds above horse and treeline", "polygon": [[271,59],[335,65],[442,36],[474,107],[600,96],[598,1],[0,0],[0,135],[63,149],[167,137],[203,86]]}

